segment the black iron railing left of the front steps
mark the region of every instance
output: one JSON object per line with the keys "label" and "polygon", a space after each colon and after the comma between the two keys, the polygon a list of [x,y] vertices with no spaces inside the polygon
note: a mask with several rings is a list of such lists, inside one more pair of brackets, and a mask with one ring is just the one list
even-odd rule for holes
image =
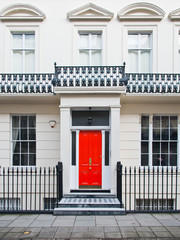
{"label": "black iron railing left of the front steps", "polygon": [[2,168],[0,212],[53,212],[63,196],[62,163],[53,168]]}

